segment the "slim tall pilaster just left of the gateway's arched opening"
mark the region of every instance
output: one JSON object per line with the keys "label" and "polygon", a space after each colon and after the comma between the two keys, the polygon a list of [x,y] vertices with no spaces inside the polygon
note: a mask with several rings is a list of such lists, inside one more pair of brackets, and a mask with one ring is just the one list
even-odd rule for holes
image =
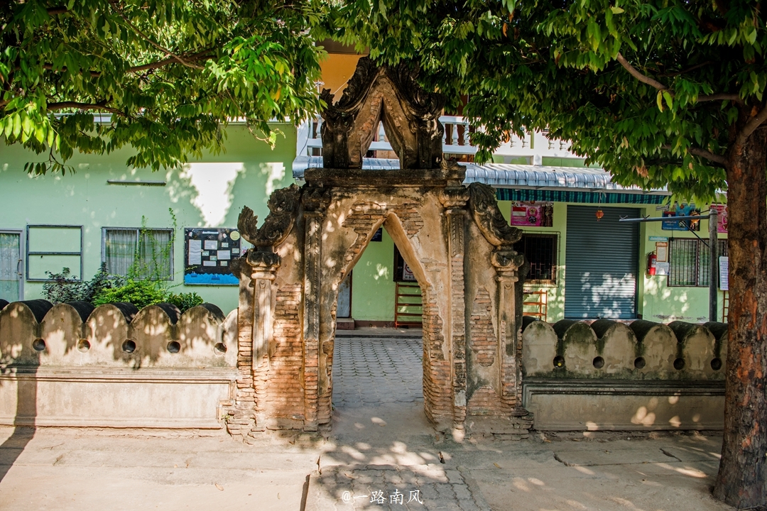
{"label": "slim tall pilaster just left of the gateway's arched opening", "polygon": [[304,429],[317,431],[320,342],[320,240],[318,211],[304,211]]}

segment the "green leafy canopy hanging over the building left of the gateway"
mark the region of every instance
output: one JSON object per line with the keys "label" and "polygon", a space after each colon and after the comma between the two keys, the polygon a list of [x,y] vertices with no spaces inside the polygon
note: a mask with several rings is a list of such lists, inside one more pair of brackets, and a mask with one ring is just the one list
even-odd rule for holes
{"label": "green leafy canopy hanging over the building left of the gateway", "polygon": [[0,6],[0,134],[67,169],[74,151],[133,146],[173,167],[222,148],[230,120],[272,144],[269,120],[318,110],[311,5],[245,0],[12,0]]}

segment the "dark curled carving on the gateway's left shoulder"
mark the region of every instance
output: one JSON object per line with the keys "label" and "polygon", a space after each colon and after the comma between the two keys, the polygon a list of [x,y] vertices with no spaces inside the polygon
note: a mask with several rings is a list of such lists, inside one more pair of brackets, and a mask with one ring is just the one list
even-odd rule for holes
{"label": "dark curled carving on the gateway's left shoulder", "polygon": [[281,244],[295,224],[299,195],[300,188],[295,184],[272,192],[267,203],[270,213],[261,228],[258,228],[258,217],[253,215],[253,210],[244,206],[237,220],[237,229],[242,237],[259,251]]}

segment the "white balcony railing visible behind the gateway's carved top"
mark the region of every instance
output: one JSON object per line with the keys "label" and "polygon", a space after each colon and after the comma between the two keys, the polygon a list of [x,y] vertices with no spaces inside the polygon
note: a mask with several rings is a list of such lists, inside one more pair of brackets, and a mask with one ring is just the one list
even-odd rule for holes
{"label": "white balcony railing visible behind the gateway's carved top", "polygon": [[[449,155],[476,154],[476,146],[469,143],[469,122],[463,116],[441,116],[439,121],[445,127],[443,153]],[[314,149],[322,148],[321,139],[322,118],[318,117],[298,128],[298,156],[316,156]],[[526,133],[520,138],[512,135],[496,151],[495,156],[503,159],[526,158],[533,165],[541,165],[542,156],[558,158],[577,158],[570,151],[570,142],[565,140],[548,139],[545,133]],[[378,124],[378,133],[370,143],[370,151],[393,151],[386,133],[384,123]]]}

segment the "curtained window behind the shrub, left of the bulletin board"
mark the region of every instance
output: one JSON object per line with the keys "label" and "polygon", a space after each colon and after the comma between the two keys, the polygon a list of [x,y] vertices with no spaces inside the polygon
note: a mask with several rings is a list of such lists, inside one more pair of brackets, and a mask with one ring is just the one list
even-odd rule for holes
{"label": "curtained window behind the shrub, left of the bulletin board", "polygon": [[107,272],[140,279],[173,280],[173,229],[102,228]]}

